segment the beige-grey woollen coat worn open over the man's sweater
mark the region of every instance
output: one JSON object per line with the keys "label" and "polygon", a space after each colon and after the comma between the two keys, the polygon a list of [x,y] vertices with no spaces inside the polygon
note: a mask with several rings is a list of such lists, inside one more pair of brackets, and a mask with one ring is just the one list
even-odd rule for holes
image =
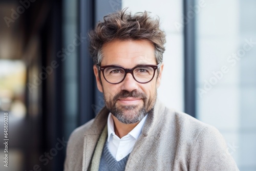
{"label": "beige-grey woollen coat worn open over the man's sweater", "polygon": [[[65,171],[88,170],[108,114],[103,108],[95,119],[72,133]],[[125,170],[238,170],[227,152],[226,143],[215,127],[167,109],[157,100]]]}

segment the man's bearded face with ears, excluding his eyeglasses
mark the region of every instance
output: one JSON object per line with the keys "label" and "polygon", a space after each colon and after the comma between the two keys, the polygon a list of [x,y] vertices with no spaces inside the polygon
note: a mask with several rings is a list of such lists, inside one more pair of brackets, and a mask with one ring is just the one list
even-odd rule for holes
{"label": "man's bearded face with ears, excluding his eyeglasses", "polygon": [[[137,65],[157,65],[154,46],[146,40],[113,40],[102,47],[103,58],[100,66],[118,65],[124,68],[134,68]],[[97,87],[103,92],[106,108],[122,123],[140,122],[153,109],[157,88],[163,65],[159,75],[156,71],[152,81],[137,82],[131,73],[118,84],[107,82],[94,66]],[[157,76],[158,75],[158,76]]]}

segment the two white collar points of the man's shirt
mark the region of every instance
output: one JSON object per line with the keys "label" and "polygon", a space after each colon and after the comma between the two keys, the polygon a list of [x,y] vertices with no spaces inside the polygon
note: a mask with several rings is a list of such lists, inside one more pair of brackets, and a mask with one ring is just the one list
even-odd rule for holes
{"label": "two white collar points of the man's shirt", "polygon": [[[114,131],[114,121],[111,115],[112,114],[110,113],[108,117],[108,142],[112,134],[116,135]],[[134,129],[130,133],[128,133],[129,135],[133,136],[136,140],[139,138],[142,132],[142,128],[146,122],[146,118],[147,115],[134,127]]]}

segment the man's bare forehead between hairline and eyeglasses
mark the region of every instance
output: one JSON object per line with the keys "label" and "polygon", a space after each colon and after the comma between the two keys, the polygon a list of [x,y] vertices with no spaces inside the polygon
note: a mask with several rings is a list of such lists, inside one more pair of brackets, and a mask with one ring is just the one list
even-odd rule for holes
{"label": "man's bare forehead between hairline and eyeglasses", "polygon": [[147,40],[113,40],[102,47],[101,65],[134,67],[139,64],[156,64],[155,48]]}

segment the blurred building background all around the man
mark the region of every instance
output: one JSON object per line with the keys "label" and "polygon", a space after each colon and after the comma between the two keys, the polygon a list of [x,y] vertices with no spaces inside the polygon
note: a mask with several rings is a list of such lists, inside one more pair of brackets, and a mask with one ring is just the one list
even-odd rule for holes
{"label": "blurred building background all around the man", "polygon": [[256,170],[253,0],[0,1],[0,170],[63,170],[71,132],[104,105],[87,33],[125,7],[158,15],[166,32],[158,97],[217,127],[240,170]]}

